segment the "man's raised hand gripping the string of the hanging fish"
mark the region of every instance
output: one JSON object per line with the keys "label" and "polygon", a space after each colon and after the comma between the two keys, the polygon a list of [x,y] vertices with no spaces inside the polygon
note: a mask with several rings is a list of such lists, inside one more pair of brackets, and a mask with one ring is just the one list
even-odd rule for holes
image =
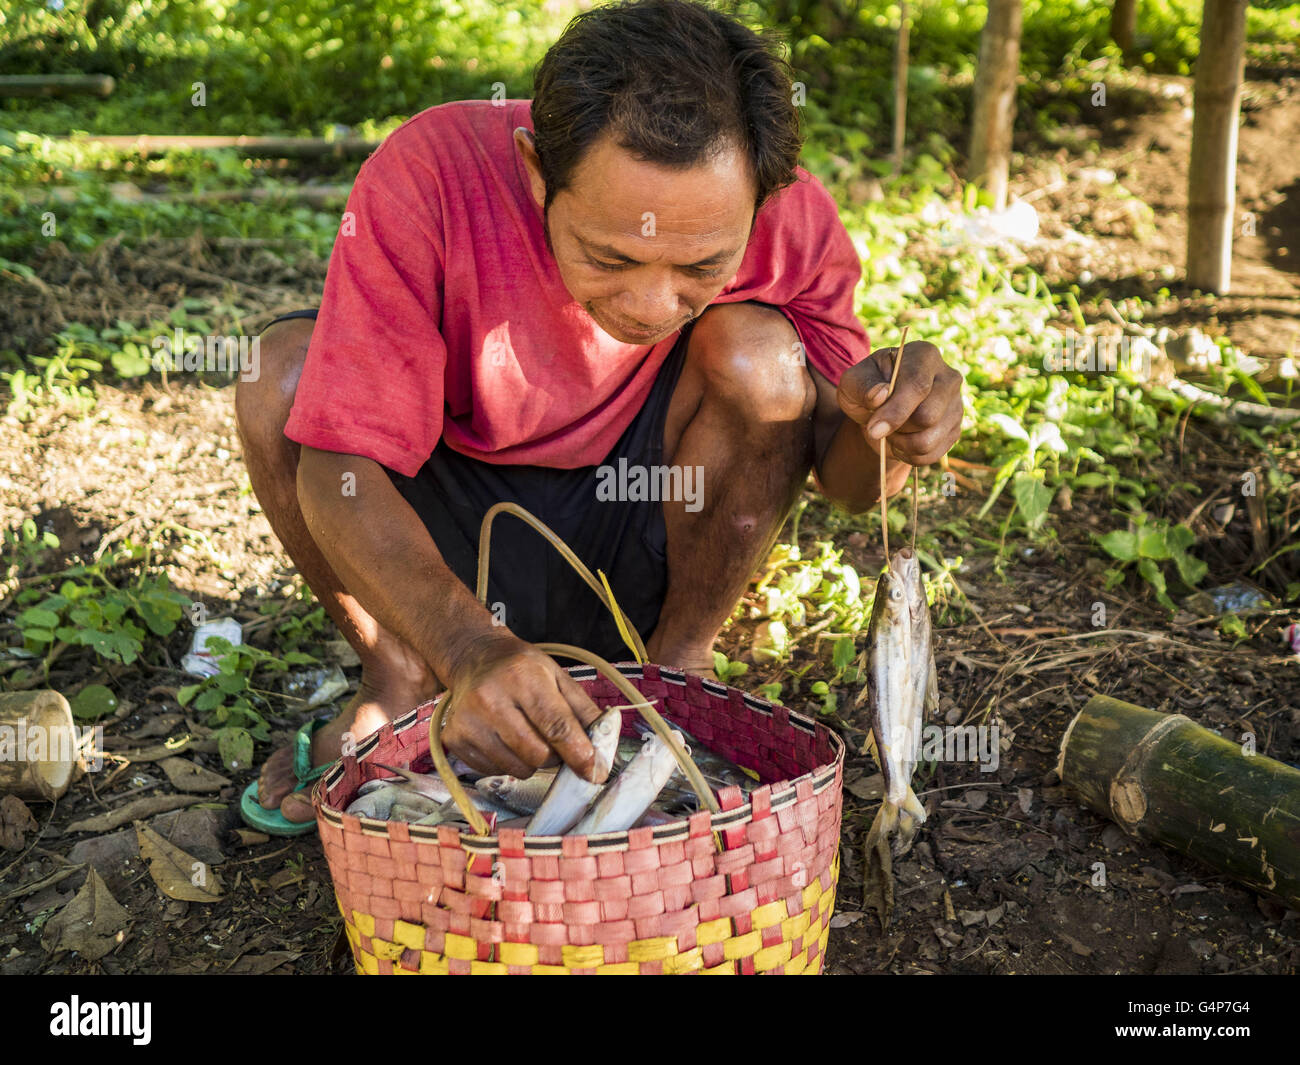
{"label": "man's raised hand gripping the string of the hanging fish", "polygon": [[[902,352],[902,367],[889,394],[896,347],[872,351],[840,378],[840,410],[858,423],[872,451],[888,438],[889,454],[910,466],[939,462],[962,433],[962,376],[939,348],[915,341]],[[888,399],[885,397],[889,395]]]}

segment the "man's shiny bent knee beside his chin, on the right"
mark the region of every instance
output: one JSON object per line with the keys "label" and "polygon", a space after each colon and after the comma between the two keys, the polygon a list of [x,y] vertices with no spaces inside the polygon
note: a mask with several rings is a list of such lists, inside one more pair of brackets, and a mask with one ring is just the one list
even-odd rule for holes
{"label": "man's shiny bent knee beside his chin, on the right", "polygon": [[811,416],[816,404],[803,345],[775,307],[710,307],[692,329],[688,359],[707,395],[742,407],[749,419],[794,421]]}

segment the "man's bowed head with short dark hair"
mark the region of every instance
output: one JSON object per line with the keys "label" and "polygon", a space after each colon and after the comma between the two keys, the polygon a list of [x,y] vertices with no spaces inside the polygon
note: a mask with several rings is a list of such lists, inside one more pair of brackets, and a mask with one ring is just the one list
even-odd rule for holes
{"label": "man's bowed head with short dark hair", "polygon": [[575,18],[537,68],[533,127],[516,143],[560,277],[637,345],[680,329],[736,274],[801,144],[785,64],[684,0]]}

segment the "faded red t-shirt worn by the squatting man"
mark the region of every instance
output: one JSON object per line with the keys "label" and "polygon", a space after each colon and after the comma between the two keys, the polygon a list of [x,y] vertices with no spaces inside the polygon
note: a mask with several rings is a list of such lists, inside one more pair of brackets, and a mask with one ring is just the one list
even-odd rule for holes
{"label": "faded red t-shirt worn by the squatting man", "polygon": [[[442,104],[361,166],[290,440],[406,476],[439,440],[482,462],[572,469],[602,462],[632,423],[679,334],[623,343],[569,295],[517,126],[533,126],[528,100]],[[798,177],[759,211],[714,303],[779,307],[809,362],[838,384],[870,350],[853,313],[861,265],[831,195]]]}

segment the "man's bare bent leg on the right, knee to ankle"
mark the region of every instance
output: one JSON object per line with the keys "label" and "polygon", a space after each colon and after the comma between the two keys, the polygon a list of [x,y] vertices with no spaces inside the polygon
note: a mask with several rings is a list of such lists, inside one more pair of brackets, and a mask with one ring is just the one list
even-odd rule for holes
{"label": "man's bare bent leg on the right, knee to ankle", "polygon": [[812,466],[816,386],[771,307],[711,307],[696,322],[664,424],[664,462],[703,469],[703,506],[664,503],[668,590],[651,662],[712,675],[718,631],[767,557]]}

